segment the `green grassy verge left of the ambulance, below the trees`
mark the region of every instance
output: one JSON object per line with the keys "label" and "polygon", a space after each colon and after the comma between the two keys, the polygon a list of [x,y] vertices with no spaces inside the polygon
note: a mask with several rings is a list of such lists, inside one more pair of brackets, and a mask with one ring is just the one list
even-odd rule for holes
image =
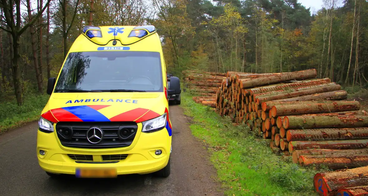
{"label": "green grassy verge left of the ambulance, below the trees", "polygon": [[22,106],[18,106],[15,100],[1,102],[0,133],[30,121],[38,120],[41,110],[45,107],[49,97],[49,95],[28,94],[24,97]]}

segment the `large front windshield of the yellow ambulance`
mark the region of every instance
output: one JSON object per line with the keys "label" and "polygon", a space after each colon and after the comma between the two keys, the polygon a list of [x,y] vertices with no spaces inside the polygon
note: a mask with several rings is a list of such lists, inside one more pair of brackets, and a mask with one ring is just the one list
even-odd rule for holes
{"label": "large front windshield of the yellow ambulance", "polygon": [[[67,90],[132,90],[162,92],[159,52],[71,52],[60,72],[55,92]],[[63,90],[63,91],[61,91]]]}

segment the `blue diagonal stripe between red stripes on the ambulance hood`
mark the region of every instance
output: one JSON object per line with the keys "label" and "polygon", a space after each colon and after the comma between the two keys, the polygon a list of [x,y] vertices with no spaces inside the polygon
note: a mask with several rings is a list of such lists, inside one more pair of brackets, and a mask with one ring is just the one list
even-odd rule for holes
{"label": "blue diagonal stripe between red stripes on the ambulance hood", "polygon": [[110,121],[105,115],[86,105],[63,108],[85,122]]}

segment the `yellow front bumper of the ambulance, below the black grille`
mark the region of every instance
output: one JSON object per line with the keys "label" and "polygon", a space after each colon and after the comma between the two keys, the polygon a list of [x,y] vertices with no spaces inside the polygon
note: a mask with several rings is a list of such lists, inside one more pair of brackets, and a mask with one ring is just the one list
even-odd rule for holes
{"label": "yellow front bumper of the ambulance, below the black grille", "polygon": [[[141,128],[141,126],[139,126]],[[162,150],[161,155],[155,155],[155,150]],[[45,155],[40,155],[44,150]],[[164,168],[170,156],[171,137],[166,128],[154,133],[141,133],[138,131],[130,146],[108,149],[84,149],[62,146],[53,133],[37,134],[37,157],[40,167],[50,173],[75,174],[77,168],[116,168],[117,174],[147,174]],[[102,155],[127,154],[124,160],[116,163],[106,163]],[[93,161],[77,163],[68,155],[92,155]],[[95,164],[92,164],[95,163]]]}

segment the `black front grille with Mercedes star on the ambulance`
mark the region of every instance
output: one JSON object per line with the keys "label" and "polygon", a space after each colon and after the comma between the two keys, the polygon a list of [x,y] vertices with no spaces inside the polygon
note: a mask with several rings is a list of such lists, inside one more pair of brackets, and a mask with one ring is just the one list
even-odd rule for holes
{"label": "black front grille with Mercedes star on the ambulance", "polygon": [[75,148],[118,148],[130,146],[137,133],[134,122],[59,122],[61,145]]}

